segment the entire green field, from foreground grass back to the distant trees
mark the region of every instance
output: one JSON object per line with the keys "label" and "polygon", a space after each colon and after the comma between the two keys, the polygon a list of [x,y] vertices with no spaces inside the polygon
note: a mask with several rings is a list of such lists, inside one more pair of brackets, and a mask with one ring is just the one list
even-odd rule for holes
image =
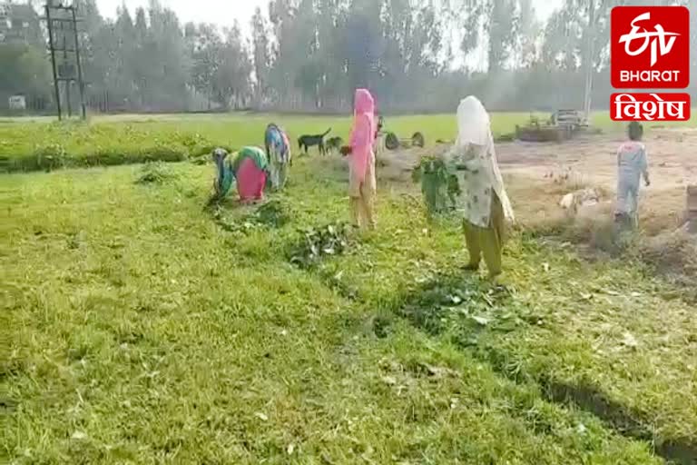
{"label": "entire green field, from foreground grass back to the distant trees", "polygon": [[[496,115],[495,132],[526,117]],[[387,125],[432,141],[454,137],[453,119]],[[0,155],[178,147],[185,160],[208,144],[260,143],[271,120],[295,137],[349,124],[103,118],[63,135],[12,121],[0,123]],[[515,231],[508,290],[492,288],[460,270],[462,234],[429,225],[407,183],[379,186],[377,232],[299,266],[307,230],[348,216],[339,163],[299,159],[289,189],[257,209],[204,208],[212,170],[0,174],[0,458],[697,462],[688,289],[626,257],[588,261],[535,230]]]}

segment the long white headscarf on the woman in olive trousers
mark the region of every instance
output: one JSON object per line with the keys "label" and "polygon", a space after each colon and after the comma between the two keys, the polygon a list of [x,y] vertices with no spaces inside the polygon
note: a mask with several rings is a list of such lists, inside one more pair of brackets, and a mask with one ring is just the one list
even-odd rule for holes
{"label": "long white headscarf on the woman in olive trousers", "polygon": [[481,148],[476,151],[476,164],[483,168],[482,175],[489,178],[504,208],[506,219],[514,221],[513,207],[506,194],[504,178],[498,169],[494,137],[491,134],[491,119],[484,105],[474,95],[461,100],[457,107],[456,149],[465,149],[470,144]]}

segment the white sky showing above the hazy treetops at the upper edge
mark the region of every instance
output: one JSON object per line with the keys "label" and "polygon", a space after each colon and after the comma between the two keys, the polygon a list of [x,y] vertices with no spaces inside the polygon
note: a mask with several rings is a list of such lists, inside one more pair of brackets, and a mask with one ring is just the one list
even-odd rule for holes
{"label": "white sky showing above the hazy treetops at the upper edge", "polygon": [[[213,23],[216,25],[231,25],[235,19],[241,25],[245,34],[250,31],[250,18],[257,6],[267,12],[269,0],[160,0],[162,6],[174,10],[182,23]],[[537,15],[546,19],[561,5],[562,0],[533,0]],[[100,12],[104,16],[113,17],[116,8],[125,4],[133,12],[138,6],[145,6],[148,0],[97,0]]]}

